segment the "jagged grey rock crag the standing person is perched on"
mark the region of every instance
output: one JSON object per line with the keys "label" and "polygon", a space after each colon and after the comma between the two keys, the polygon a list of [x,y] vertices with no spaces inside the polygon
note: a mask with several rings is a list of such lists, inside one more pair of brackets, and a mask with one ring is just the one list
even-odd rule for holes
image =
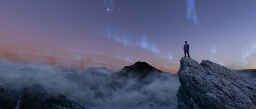
{"label": "jagged grey rock crag the standing person is perched on", "polygon": [[179,109],[256,109],[256,86],[219,64],[184,57],[177,74]]}

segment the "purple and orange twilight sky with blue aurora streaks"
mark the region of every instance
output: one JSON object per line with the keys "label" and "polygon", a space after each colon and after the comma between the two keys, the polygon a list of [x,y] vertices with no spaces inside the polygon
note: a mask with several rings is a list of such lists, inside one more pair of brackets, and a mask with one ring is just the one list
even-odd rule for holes
{"label": "purple and orange twilight sky with blue aurora streaks", "polygon": [[256,68],[256,0],[0,1],[2,59],[175,74],[184,41],[199,63]]}

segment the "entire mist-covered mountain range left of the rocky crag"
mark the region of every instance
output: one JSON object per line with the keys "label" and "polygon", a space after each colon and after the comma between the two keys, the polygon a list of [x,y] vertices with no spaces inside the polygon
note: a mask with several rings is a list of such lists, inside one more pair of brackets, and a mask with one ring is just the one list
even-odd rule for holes
{"label": "entire mist-covered mountain range left of the rocky crag", "polygon": [[170,109],[177,107],[180,85],[177,75],[145,62],[117,71],[102,67],[81,71],[0,61],[0,74],[3,109]]}

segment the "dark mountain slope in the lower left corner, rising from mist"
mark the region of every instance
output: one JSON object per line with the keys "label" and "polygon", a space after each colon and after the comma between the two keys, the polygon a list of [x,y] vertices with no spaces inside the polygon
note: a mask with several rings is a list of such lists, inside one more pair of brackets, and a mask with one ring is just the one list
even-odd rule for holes
{"label": "dark mountain slope in the lower left corner, rising from mist", "polygon": [[88,109],[42,85],[16,78],[0,87],[1,109]]}

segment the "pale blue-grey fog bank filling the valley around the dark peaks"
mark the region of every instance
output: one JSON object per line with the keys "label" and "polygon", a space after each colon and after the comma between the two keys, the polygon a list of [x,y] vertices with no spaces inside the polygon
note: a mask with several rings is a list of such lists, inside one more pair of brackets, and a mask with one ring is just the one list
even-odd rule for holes
{"label": "pale blue-grey fog bank filling the valley around the dark peaks", "polygon": [[[130,77],[110,77],[117,71],[104,68],[66,70],[38,63],[0,61],[0,85],[15,78],[54,89],[71,100],[92,108],[170,108],[177,106],[177,76],[163,74],[150,78],[148,84],[139,84]],[[112,83],[116,80],[119,84]],[[127,81],[127,82],[126,82]],[[139,84],[139,85],[138,85]],[[138,86],[137,86],[138,85]],[[134,89],[130,88],[134,87]]]}

